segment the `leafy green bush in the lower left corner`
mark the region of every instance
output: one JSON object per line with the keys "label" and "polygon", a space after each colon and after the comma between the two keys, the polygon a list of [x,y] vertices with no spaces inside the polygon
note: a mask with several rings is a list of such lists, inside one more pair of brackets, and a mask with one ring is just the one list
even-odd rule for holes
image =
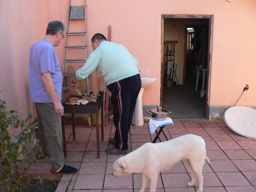
{"label": "leafy green bush in the lower left corner", "polygon": [[[0,99],[0,192],[22,191],[29,182],[26,172],[37,161],[35,153],[42,153],[39,140],[35,140],[37,127],[27,125],[31,118],[31,113],[24,120],[16,110],[7,111]],[[14,137],[11,132],[16,128],[21,132]]]}

